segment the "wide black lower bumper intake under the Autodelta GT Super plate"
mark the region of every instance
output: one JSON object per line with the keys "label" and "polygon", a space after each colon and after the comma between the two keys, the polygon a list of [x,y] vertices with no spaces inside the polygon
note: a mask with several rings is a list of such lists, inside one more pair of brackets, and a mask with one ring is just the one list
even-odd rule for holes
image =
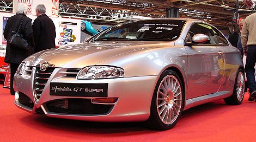
{"label": "wide black lower bumper intake under the Autodelta GT Super plate", "polygon": [[105,115],[112,110],[114,105],[92,104],[90,99],[58,99],[47,102],[46,107],[54,113]]}

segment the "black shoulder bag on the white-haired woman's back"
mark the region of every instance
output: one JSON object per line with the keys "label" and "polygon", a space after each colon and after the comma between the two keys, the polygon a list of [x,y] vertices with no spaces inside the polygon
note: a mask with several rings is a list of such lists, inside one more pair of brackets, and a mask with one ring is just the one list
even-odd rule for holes
{"label": "black shoulder bag on the white-haired woman's back", "polygon": [[19,26],[19,29],[17,30],[17,32],[12,31],[13,35],[11,36],[11,38],[9,40],[9,43],[10,43],[11,47],[19,48],[19,49],[22,49],[22,50],[28,50],[27,40],[25,40],[25,38],[23,38],[22,34],[19,34],[19,31],[20,31],[20,28],[21,28],[21,25],[23,23],[24,18],[25,17],[23,16],[22,19],[21,19],[20,26]]}

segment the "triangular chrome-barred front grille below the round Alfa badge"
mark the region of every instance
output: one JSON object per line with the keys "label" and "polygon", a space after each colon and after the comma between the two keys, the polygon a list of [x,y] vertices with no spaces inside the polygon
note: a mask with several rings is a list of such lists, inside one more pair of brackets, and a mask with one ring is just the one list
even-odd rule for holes
{"label": "triangular chrome-barred front grille below the round Alfa badge", "polygon": [[35,87],[34,87],[34,92],[35,92],[35,102],[38,102],[40,99],[40,96],[42,94],[42,91],[45,88],[45,85],[50,78],[54,68],[47,68],[44,72],[40,70],[39,67],[36,67],[35,70]]}

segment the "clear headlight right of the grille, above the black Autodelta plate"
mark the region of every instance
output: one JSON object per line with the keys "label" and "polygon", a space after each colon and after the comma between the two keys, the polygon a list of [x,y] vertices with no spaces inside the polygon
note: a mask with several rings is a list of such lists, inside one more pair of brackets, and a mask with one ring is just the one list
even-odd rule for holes
{"label": "clear headlight right of the grille, above the black Autodelta plate", "polygon": [[80,70],[77,79],[124,78],[124,69],[108,66],[92,66]]}

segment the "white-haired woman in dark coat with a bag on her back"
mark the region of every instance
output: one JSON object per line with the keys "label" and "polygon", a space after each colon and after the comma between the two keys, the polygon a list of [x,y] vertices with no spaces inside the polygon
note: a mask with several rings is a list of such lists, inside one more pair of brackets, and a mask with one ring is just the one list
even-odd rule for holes
{"label": "white-haired woman in dark coat with a bag on her back", "polygon": [[[10,64],[11,69],[11,79],[10,79],[10,93],[15,95],[13,88],[13,79],[14,74],[16,73],[17,68],[22,60],[26,59],[29,55],[34,53],[34,38],[33,38],[33,29],[32,29],[32,20],[26,16],[28,12],[28,5],[24,3],[19,3],[17,12],[14,16],[11,16],[7,20],[7,24],[4,28],[4,38],[7,40],[6,54],[4,62]],[[23,22],[21,20],[23,18]],[[19,33],[28,42],[28,50],[23,50],[20,48],[12,47],[9,43],[10,37],[13,35],[13,31],[17,31],[21,24]]]}

